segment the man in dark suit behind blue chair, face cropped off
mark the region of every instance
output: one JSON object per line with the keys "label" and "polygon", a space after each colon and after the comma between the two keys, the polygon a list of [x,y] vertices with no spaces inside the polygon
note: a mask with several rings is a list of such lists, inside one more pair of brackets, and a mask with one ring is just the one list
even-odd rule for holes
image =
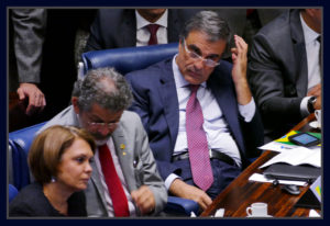
{"label": "man in dark suit behind blue chair, face cropped off", "polygon": [[157,24],[158,44],[178,42],[185,22],[199,10],[103,9],[90,27],[85,52],[147,45],[148,24]]}

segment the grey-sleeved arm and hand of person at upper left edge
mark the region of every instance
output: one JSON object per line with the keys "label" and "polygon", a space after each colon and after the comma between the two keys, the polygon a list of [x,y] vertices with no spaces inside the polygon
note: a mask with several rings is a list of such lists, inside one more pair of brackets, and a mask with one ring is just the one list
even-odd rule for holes
{"label": "grey-sleeved arm and hand of person at upper left edge", "polygon": [[[19,99],[28,100],[25,113],[31,115],[46,105],[41,82],[43,44],[47,22],[45,9],[12,9],[13,45],[20,87]],[[13,80],[13,79],[11,79]]]}

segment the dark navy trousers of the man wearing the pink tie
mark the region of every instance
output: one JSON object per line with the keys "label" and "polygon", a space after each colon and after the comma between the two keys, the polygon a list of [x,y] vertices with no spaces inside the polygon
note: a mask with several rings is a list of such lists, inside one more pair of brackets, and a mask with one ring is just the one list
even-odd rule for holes
{"label": "dark navy trousers of the man wearing the pink tie", "polygon": [[[178,160],[174,163],[180,168],[180,170],[175,173],[182,177],[186,183],[197,187],[193,181],[189,159]],[[219,159],[211,159],[211,167],[213,171],[213,183],[206,193],[213,200],[241,173],[241,169],[237,166],[228,165]]]}

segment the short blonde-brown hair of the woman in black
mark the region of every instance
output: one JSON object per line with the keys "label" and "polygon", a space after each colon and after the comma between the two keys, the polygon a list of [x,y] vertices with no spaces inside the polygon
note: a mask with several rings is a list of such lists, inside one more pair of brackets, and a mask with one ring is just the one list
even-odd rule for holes
{"label": "short blonde-brown hair of the woman in black", "polygon": [[48,183],[52,177],[57,176],[62,155],[77,138],[86,140],[95,154],[96,144],[92,136],[87,131],[74,126],[54,125],[35,137],[28,161],[37,182]]}

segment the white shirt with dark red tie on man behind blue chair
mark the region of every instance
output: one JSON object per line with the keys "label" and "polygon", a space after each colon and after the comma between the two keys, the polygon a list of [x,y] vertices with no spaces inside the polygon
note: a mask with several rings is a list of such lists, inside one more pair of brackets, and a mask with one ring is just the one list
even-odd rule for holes
{"label": "white shirt with dark red tie on man behind blue chair", "polygon": [[[150,39],[150,32],[145,26],[151,24],[151,22],[142,18],[136,10],[135,10],[135,15],[136,15],[136,46],[146,46]],[[167,16],[168,16],[168,11],[166,10],[163,13],[163,15],[156,22],[153,23],[160,25],[156,33],[158,44],[168,43]]]}

